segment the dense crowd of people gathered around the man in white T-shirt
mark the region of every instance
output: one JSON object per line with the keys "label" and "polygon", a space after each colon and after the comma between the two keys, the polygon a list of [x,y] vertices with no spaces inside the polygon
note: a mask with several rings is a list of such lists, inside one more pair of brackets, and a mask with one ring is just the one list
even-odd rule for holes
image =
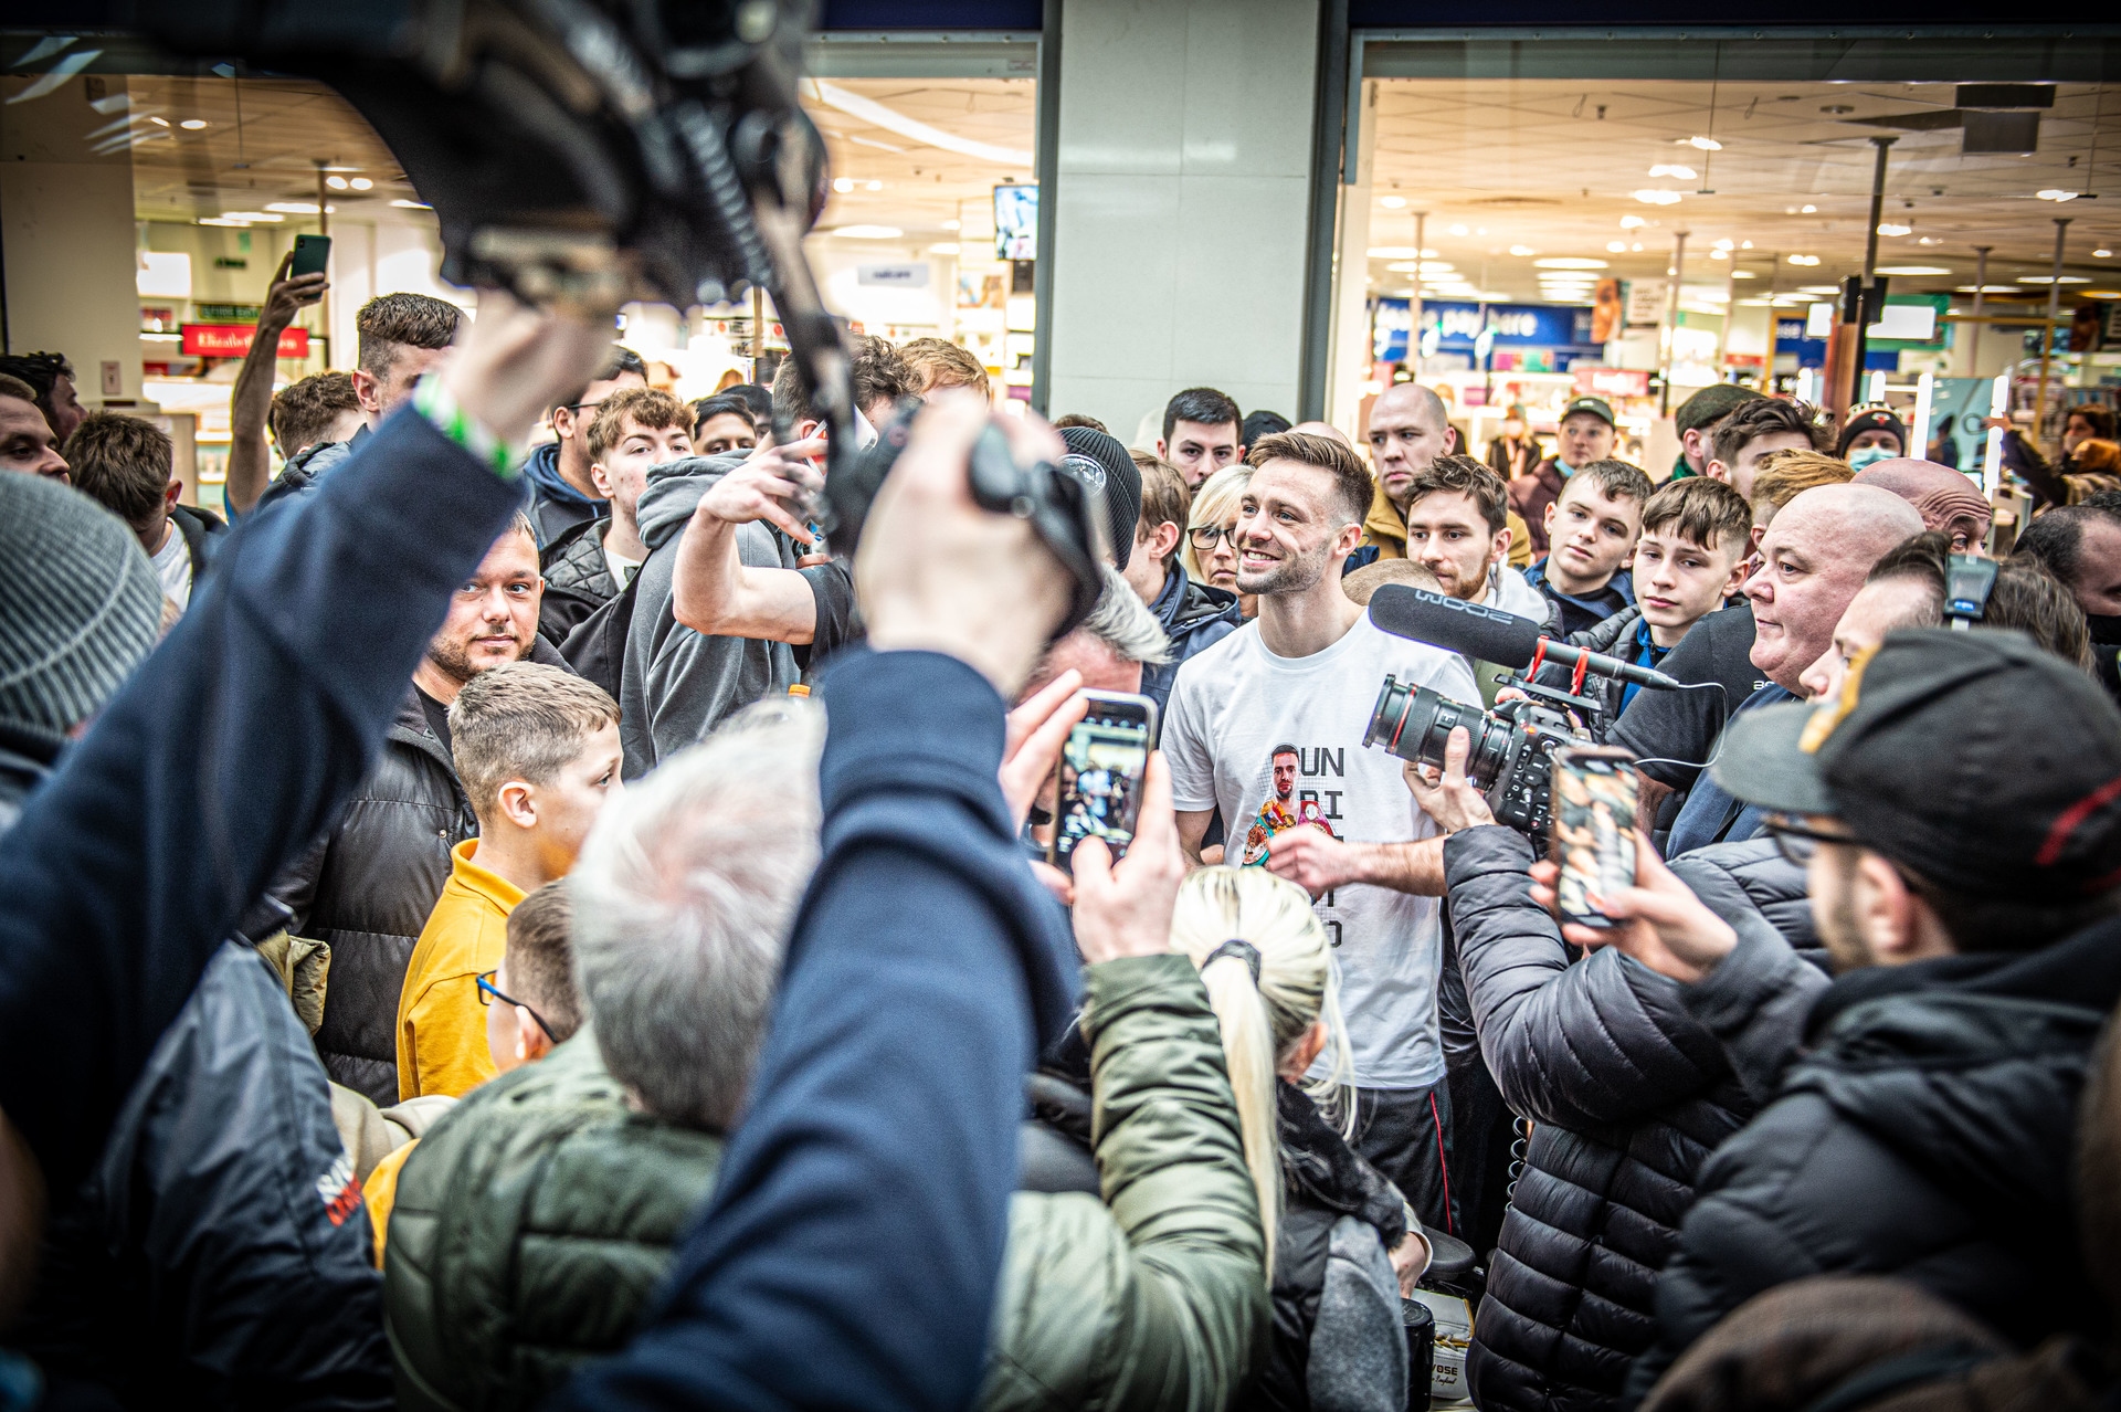
{"label": "dense crowd of people gathered around the man in white T-shirt", "polygon": [[[399,293],[274,390],[322,293],[225,517],[0,360],[0,1410],[1398,1412],[1417,1291],[1493,1412],[2113,1395],[2104,409],[2006,441],[2000,543],[1879,407],[1707,388],[1644,469],[1597,396],[1476,458],[1417,382],[1188,388],[1128,447],[855,335],[848,562],[793,365],[685,403]],[[1067,632],[988,426],[1103,492]],[[1463,729],[1364,744],[1387,674],[1635,761],[1606,926]],[[1086,691],[1160,748],[1063,873]]]}

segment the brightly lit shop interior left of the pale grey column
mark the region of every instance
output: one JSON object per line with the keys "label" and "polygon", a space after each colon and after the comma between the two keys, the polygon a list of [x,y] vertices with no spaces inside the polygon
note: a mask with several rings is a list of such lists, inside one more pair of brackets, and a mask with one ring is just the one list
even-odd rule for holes
{"label": "brightly lit shop interior left of the pale grey column", "polygon": [[[34,51],[32,51],[34,53]],[[17,61],[30,74],[45,61]],[[819,66],[831,68],[831,66]],[[1029,66],[1024,66],[1029,68]],[[318,83],[248,74],[89,74],[112,121],[93,155],[129,157],[144,405],[218,498],[229,392],[267,284],[301,233],[329,233],[333,288],[280,343],[280,382],[344,369],[354,312],[388,290],[471,307],[441,282],[433,212],[363,117]],[[34,83],[32,83],[34,87]],[[11,93],[25,91],[17,81]],[[808,78],[831,195],[808,237],[827,305],[855,333],[944,337],[986,365],[997,401],[1031,396],[1035,78]],[[772,375],[770,301],[628,305],[621,341],[679,396]]]}

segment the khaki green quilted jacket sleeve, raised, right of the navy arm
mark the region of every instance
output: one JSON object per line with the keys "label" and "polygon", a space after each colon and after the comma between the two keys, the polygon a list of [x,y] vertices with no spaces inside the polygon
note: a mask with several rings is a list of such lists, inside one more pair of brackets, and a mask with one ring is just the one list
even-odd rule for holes
{"label": "khaki green quilted jacket sleeve, raised, right of the navy arm", "polygon": [[980,1406],[1222,1412],[1266,1344],[1266,1257],[1222,1035],[1184,956],[1088,973],[1103,1202],[1020,1192]]}

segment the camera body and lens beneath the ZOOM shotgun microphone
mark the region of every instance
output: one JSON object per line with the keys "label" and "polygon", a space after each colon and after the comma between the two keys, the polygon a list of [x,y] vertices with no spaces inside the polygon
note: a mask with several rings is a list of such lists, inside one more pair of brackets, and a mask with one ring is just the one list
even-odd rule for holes
{"label": "camera body and lens beneath the ZOOM shotgun microphone", "polygon": [[1538,842],[1546,837],[1553,814],[1555,751],[1591,744],[1591,734],[1570,721],[1570,710],[1595,712],[1597,704],[1519,676],[1504,676],[1502,685],[1517,687],[1527,700],[1476,710],[1385,676],[1362,744],[1442,770],[1451,731],[1463,725],[1472,736],[1466,778],[1487,795],[1495,823]]}

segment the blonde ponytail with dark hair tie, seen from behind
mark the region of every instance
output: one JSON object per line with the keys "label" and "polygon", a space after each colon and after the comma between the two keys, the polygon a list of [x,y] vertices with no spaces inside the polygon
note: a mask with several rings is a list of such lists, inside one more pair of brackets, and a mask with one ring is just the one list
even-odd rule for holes
{"label": "blonde ponytail with dark hair tie, seen from behind", "polygon": [[[1224,1066],[1237,1098],[1245,1166],[1260,1194],[1266,1272],[1273,1278],[1281,1225],[1281,1136],[1275,1071],[1283,1054],[1321,1018],[1332,1073],[1313,1092],[1321,1107],[1353,1119],[1334,1090],[1353,1069],[1340,1024],[1338,973],[1311,895],[1258,867],[1203,867],[1179,888],[1171,946],[1200,967],[1209,1007],[1222,1030]],[[1324,1094],[1324,1096],[1321,1096]]]}

